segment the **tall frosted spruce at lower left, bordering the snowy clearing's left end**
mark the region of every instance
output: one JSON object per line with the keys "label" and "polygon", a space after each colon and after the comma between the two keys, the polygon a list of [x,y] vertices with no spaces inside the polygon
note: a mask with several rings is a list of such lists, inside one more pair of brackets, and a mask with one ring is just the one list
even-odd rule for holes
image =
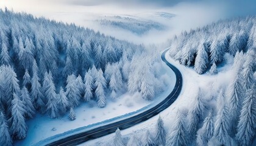
{"label": "tall frosted spruce at lower left, bordering the snowy clearing's left end", "polygon": [[14,93],[12,100],[12,117],[10,121],[10,133],[14,139],[24,139],[27,134],[27,127],[24,117],[24,104]]}

